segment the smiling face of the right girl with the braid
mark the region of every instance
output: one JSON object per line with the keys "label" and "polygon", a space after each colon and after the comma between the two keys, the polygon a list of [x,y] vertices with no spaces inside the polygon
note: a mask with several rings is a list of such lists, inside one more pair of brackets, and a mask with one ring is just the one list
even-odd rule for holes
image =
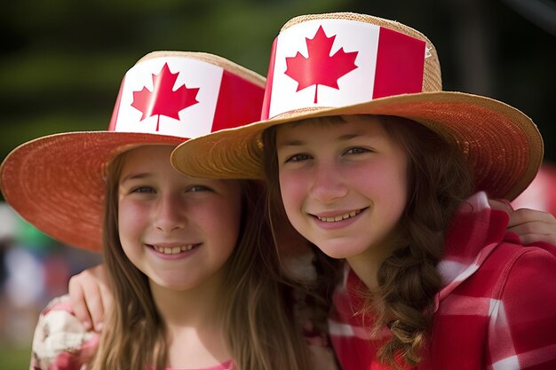
{"label": "smiling face of the right girl with the braid", "polygon": [[407,201],[408,156],[373,117],[276,131],[291,224],[328,256],[384,259]]}

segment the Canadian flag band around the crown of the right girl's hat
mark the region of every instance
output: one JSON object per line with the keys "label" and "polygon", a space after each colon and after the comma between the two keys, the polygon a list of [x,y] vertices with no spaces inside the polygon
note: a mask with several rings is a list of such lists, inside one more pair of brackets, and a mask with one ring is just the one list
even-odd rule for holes
{"label": "Canadian flag band around the crown of the right girl's hat", "polygon": [[263,119],[420,92],[425,41],[353,20],[308,20],[274,40]]}

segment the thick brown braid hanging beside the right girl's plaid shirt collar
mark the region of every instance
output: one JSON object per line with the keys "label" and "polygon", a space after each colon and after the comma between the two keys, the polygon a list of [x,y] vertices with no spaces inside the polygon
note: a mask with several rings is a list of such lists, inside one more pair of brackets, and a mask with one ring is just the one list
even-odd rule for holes
{"label": "thick brown braid hanging beside the right girl's plaid shirt collar", "polygon": [[386,325],[393,334],[378,356],[389,363],[401,354],[409,365],[417,365],[432,326],[433,297],[441,287],[435,267],[442,252],[441,233],[420,221],[408,222],[412,242],[388,257],[377,274],[380,293],[372,303],[377,327]]}

